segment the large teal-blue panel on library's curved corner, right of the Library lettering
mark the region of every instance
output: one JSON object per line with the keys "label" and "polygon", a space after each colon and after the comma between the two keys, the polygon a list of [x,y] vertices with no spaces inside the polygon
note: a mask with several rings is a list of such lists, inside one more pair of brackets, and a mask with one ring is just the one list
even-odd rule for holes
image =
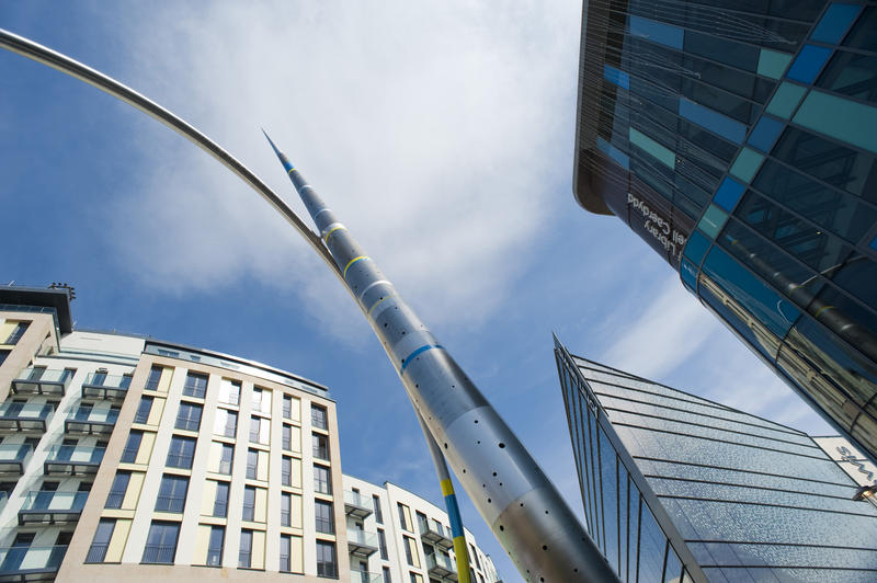
{"label": "large teal-blue panel on library's curved corner, right of the Library lettering", "polygon": [[713,247],[707,254],[703,270],[728,295],[779,338],[785,336],[800,315],[797,308],[717,247]]}

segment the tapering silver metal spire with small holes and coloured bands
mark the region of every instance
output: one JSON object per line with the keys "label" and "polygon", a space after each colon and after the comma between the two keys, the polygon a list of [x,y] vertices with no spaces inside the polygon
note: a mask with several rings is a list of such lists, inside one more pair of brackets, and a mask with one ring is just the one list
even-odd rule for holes
{"label": "tapering silver metal spire with small holes and coloured bands", "polygon": [[524,579],[539,583],[618,581],[505,422],[301,173],[273,142],[271,146],[414,409]]}

